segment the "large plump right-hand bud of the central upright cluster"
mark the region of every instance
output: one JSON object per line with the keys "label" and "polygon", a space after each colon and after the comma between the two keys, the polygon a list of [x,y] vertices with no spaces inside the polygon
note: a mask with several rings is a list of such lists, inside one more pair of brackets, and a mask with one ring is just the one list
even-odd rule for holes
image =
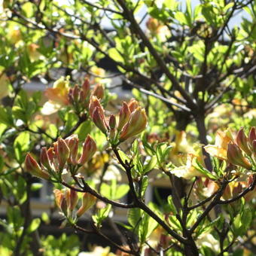
{"label": "large plump right-hand bud of the central upright cluster", "polygon": [[142,109],[141,107],[136,108],[136,110],[130,115],[128,122],[120,133],[120,142],[142,133],[146,126],[147,115],[145,113],[145,109]]}

